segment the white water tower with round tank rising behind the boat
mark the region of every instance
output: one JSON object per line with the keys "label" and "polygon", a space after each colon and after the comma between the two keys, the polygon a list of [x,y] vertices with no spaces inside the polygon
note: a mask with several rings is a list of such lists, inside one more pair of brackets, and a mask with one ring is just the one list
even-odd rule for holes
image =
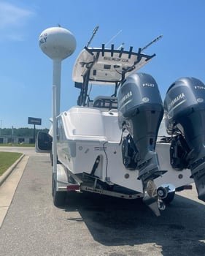
{"label": "white water tower with round tank rising behind the boat", "polygon": [[[53,86],[56,86],[56,116],[61,105],[61,61],[71,56],[76,48],[74,35],[60,26],[45,29],[39,36],[39,47],[53,59]],[[53,102],[54,103],[54,102]]]}

